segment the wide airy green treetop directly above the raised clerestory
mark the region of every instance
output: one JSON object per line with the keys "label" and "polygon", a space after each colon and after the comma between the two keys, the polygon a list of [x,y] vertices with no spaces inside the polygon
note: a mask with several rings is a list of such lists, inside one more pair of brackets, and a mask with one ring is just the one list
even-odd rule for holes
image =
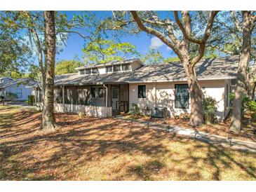
{"label": "wide airy green treetop directly above the raised clerestory", "polygon": [[83,48],[83,58],[88,64],[102,64],[138,55],[136,47],[131,43],[115,42],[114,40],[97,37],[86,43]]}

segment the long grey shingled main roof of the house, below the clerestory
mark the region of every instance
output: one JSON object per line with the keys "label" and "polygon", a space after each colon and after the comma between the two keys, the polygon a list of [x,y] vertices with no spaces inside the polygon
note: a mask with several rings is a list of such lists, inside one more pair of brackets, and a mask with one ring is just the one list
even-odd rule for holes
{"label": "long grey shingled main roof of the house, below the clerestory", "polygon": [[[198,80],[236,78],[238,56],[217,57],[201,60],[196,64]],[[180,62],[154,64],[140,67],[135,71],[116,72],[112,74],[97,74],[79,76],[64,74],[55,76],[55,85],[86,85],[102,83],[149,83],[187,81],[187,76]]]}

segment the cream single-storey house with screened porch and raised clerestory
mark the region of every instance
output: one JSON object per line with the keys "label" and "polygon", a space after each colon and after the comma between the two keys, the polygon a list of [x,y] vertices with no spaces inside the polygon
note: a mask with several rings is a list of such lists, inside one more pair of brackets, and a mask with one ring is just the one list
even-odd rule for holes
{"label": "cream single-storey house with screened porch and raised clerestory", "polygon": [[[201,60],[196,74],[205,97],[217,101],[217,117],[227,116],[229,93],[236,83],[238,57]],[[114,116],[132,104],[141,109],[167,107],[168,115],[190,112],[187,78],[180,62],[144,66],[138,59],[77,68],[55,76],[55,111],[84,111],[90,116]],[[37,88],[36,100],[41,101]]]}

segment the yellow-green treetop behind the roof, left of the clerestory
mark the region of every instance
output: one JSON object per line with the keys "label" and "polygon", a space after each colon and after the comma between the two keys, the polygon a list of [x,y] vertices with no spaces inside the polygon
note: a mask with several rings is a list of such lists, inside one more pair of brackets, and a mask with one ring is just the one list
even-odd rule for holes
{"label": "yellow-green treetop behind the roof, left of the clerestory", "polygon": [[76,60],[62,60],[55,66],[55,74],[71,74],[76,72],[76,67],[82,66],[83,63]]}

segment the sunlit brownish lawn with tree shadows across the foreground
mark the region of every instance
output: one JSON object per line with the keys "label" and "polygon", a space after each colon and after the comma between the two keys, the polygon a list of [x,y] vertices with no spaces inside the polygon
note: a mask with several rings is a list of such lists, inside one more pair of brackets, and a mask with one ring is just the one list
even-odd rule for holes
{"label": "sunlit brownish lawn with tree shadows across the foreground", "polygon": [[256,180],[256,153],[234,151],[115,118],[0,107],[2,180]]}

